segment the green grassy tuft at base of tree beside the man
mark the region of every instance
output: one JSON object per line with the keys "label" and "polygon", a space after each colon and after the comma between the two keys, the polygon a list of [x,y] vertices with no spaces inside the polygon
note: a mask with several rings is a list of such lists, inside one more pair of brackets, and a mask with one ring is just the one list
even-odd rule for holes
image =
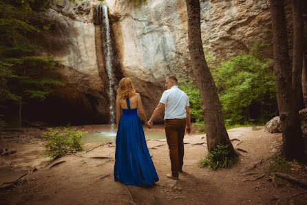
{"label": "green grassy tuft at base of tree beside the man", "polygon": [[201,166],[209,166],[209,168],[216,170],[218,168],[229,168],[235,162],[237,158],[229,156],[229,144],[219,144],[213,151],[208,152],[207,158],[204,158],[201,162]]}

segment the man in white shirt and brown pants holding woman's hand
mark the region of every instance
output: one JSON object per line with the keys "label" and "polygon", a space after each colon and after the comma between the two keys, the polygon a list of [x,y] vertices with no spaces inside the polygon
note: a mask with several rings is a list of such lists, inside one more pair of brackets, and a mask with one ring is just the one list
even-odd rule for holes
{"label": "man in white shirt and brown pants holding woman's hand", "polygon": [[189,112],[189,98],[184,91],[178,88],[176,76],[169,76],[165,80],[166,91],[162,94],[160,102],[152,114],[149,125],[153,125],[154,119],[165,109],[165,135],[169,145],[169,157],[171,158],[171,174],[167,177],[178,180],[179,172],[182,172],[184,144],[183,137],[187,127],[187,133],[191,133],[191,116]]}

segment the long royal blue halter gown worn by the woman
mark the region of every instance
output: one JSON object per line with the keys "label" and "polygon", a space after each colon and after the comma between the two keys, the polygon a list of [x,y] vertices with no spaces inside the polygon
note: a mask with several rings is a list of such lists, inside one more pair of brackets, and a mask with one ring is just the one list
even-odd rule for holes
{"label": "long royal blue halter gown worn by the woman", "polygon": [[147,148],[137,108],[123,109],[116,135],[114,180],[126,185],[150,185],[158,182],[154,163]]}

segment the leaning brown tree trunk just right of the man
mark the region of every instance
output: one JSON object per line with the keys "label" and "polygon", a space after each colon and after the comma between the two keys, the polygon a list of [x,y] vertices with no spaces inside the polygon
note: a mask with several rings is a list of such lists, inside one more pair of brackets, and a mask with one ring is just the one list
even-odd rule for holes
{"label": "leaning brown tree trunk just right of the man", "polygon": [[237,156],[237,153],[233,149],[233,145],[229,140],[224,125],[218,91],[204,57],[200,31],[200,2],[198,0],[186,0],[186,3],[191,66],[198,89],[200,89],[200,99],[202,104],[202,114],[204,116],[204,125],[206,127],[208,151],[213,151],[218,144],[229,144],[229,155]]}

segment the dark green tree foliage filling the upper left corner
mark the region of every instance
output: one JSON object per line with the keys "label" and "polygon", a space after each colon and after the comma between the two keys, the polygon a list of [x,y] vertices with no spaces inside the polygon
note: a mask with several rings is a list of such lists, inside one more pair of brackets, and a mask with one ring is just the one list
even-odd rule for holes
{"label": "dark green tree foliage filling the upper left corner", "polygon": [[50,56],[37,56],[40,47],[28,36],[50,28],[50,20],[39,11],[51,0],[0,0],[0,114],[7,105],[32,99],[45,100],[53,85],[63,85],[59,74],[50,72],[60,65]]}

